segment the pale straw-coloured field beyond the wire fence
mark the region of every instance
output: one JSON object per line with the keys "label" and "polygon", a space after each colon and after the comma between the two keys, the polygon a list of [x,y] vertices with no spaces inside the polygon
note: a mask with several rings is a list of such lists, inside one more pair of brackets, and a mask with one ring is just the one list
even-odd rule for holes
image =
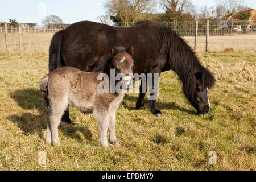
{"label": "pale straw-coloured field beyond the wire fence", "polygon": [[[48,54],[49,43],[51,41],[52,33],[34,33],[23,34],[22,44],[23,51],[26,54],[40,52]],[[18,53],[18,35],[8,35],[10,52]],[[189,45],[194,46],[193,37],[185,37]],[[209,37],[209,51],[223,51],[226,48],[233,48],[235,51],[251,51],[256,50],[256,35],[240,35],[240,36],[210,36]],[[197,50],[205,50],[205,37],[199,36],[197,42]],[[0,52],[5,52],[5,37],[0,35]]]}

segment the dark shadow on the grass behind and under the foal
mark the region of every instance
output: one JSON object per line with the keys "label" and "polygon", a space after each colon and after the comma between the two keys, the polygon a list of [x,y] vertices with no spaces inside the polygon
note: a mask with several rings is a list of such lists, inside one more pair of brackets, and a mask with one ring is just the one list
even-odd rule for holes
{"label": "dark shadow on the grass behind and under the foal", "polygon": [[[40,91],[36,89],[21,89],[10,93],[11,98],[15,100],[19,107],[24,110],[36,109],[39,115],[32,114],[31,111],[26,111],[22,115],[11,114],[6,119],[13,121],[24,132],[25,135],[37,133],[40,138],[43,138],[43,129],[46,129],[47,114],[49,109],[42,105],[42,97]],[[87,140],[92,140],[92,133],[86,126],[72,126],[62,123],[59,129],[64,135],[74,138],[82,142],[82,138],[77,132],[81,132]]]}

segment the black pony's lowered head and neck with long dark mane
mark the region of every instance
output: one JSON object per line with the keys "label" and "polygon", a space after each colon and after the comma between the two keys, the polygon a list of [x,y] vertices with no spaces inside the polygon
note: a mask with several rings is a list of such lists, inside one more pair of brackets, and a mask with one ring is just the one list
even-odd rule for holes
{"label": "black pony's lowered head and neck with long dark mane", "polygon": [[185,96],[197,113],[210,113],[208,89],[212,88],[215,82],[212,73],[200,64],[195,52],[176,32],[162,27],[159,36],[160,55],[167,55],[170,69],[174,70],[183,82]]}

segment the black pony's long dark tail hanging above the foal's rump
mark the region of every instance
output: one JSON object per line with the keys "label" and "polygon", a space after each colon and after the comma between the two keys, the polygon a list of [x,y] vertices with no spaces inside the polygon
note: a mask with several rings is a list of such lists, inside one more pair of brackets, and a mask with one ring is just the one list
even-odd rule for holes
{"label": "black pony's long dark tail hanging above the foal's rump", "polygon": [[60,30],[53,35],[51,46],[49,48],[49,73],[56,68],[63,67],[64,61],[60,54],[60,48],[63,41],[63,33],[65,30]]}

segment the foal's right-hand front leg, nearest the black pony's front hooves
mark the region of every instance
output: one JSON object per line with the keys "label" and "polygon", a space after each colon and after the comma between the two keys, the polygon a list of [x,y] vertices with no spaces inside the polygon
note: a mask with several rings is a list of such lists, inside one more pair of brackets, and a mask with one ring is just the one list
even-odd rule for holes
{"label": "foal's right-hand front leg, nearest the black pony's front hooves", "polygon": [[115,111],[116,110],[113,109],[110,110],[109,113],[109,142],[113,143],[115,146],[120,146],[115,135]]}

